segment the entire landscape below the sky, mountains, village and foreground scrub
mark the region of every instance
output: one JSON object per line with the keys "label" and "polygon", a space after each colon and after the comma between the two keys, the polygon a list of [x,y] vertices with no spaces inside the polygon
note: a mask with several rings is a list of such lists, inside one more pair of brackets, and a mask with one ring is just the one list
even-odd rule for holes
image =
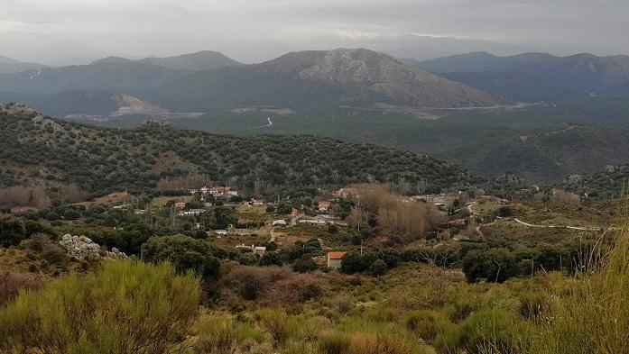
{"label": "entire landscape below the sky, mountains, village and foreground scrub", "polygon": [[3,60],[2,353],[628,348],[624,56]]}

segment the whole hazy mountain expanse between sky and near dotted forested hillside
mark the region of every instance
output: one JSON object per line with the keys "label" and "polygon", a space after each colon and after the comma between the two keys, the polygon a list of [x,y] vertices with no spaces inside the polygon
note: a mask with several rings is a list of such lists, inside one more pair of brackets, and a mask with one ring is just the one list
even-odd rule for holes
{"label": "whole hazy mountain expanse between sky and near dotted forested hillside", "polygon": [[3,74],[0,101],[113,127],[159,120],[235,135],[377,143],[533,183],[629,163],[622,56],[473,53],[418,62],[338,49],[254,65],[226,58],[108,57]]}

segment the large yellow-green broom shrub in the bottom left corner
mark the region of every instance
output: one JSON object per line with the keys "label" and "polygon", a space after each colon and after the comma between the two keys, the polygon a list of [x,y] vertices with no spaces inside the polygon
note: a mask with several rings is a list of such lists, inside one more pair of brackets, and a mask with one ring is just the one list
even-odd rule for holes
{"label": "large yellow-green broom shrub in the bottom left corner", "polygon": [[107,261],[97,273],[60,277],[0,309],[0,351],[169,352],[190,334],[199,281],[170,265]]}

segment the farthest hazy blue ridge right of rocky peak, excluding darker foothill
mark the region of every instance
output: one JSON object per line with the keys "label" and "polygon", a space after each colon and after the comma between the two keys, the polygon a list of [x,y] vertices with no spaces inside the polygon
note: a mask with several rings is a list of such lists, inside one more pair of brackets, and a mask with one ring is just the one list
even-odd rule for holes
{"label": "farthest hazy blue ridge right of rocky peak, excluding darker foothill", "polygon": [[583,93],[602,91],[629,82],[629,56],[597,57],[577,54],[555,57],[545,53],[525,53],[497,57],[475,52],[431,59],[419,64],[434,73],[521,72]]}

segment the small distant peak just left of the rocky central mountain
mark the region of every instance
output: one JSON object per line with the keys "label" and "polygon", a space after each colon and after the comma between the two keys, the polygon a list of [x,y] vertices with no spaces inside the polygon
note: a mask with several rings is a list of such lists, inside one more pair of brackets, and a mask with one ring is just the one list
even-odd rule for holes
{"label": "small distant peak just left of the rocky central mountain", "polygon": [[226,57],[223,53],[210,50],[170,58],[145,58],[137,60],[137,62],[153,64],[164,68],[195,71],[244,65],[234,59]]}

